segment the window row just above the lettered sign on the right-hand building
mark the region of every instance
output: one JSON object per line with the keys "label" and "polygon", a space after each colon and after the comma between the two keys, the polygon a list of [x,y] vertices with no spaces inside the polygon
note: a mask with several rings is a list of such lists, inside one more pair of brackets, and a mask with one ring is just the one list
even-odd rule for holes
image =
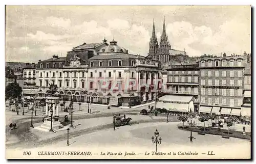
{"label": "window row just above the lettered sign on the right-hand building", "polygon": [[[201,79],[201,86],[212,86],[213,84],[211,83],[214,79],[208,79],[207,80],[207,85],[205,84],[205,79]],[[236,84],[234,83],[235,81]],[[229,80],[229,84],[227,85],[227,80],[226,79],[222,79],[220,83],[219,79],[215,79],[214,80],[214,86],[238,86],[238,87],[242,87],[243,86],[243,80]],[[220,85],[221,84],[221,85]]]}

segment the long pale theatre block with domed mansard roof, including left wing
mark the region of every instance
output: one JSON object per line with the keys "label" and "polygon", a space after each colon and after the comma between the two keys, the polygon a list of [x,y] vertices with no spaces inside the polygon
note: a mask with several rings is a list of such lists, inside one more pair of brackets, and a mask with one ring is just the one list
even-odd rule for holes
{"label": "long pale theatre block with domed mansard roof, including left wing", "polygon": [[[82,51],[82,53],[81,53]],[[156,98],[160,62],[129,54],[111,41],[83,44],[66,58],[39,61],[36,69],[40,96],[57,85],[61,100],[130,106]],[[148,86],[146,85],[148,83]]]}

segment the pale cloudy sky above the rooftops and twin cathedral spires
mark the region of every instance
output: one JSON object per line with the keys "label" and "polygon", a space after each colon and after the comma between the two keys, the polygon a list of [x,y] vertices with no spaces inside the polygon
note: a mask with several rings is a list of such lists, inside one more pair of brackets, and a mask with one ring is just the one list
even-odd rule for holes
{"label": "pale cloudy sky above the rooftops and twin cathedral spires", "polygon": [[38,62],[85,43],[115,40],[146,56],[153,19],[188,56],[251,52],[250,6],[6,6],[6,62]]}

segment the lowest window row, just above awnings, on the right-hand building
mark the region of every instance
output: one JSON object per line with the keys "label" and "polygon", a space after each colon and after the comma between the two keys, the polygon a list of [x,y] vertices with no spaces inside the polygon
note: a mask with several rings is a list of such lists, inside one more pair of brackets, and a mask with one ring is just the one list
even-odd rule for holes
{"label": "lowest window row, just above awnings, on the right-hand building", "polygon": [[[207,102],[205,102],[205,97],[201,97],[201,103],[202,104],[208,104],[208,105],[228,105],[227,104],[227,99],[226,98],[211,98],[211,97],[208,97],[207,99]],[[214,102],[212,102],[212,100],[214,100]],[[220,102],[221,100],[221,102]],[[238,99],[237,101],[237,105],[236,106],[241,106],[243,103],[243,100],[242,99]],[[229,106],[234,106],[234,99],[229,99]]]}

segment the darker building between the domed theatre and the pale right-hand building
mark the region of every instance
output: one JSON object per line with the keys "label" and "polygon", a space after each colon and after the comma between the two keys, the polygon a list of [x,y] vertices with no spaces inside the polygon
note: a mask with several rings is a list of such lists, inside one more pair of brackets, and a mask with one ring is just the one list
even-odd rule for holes
{"label": "darker building between the domed theatre and the pale right-hand building", "polygon": [[[186,99],[186,103],[193,101],[193,107],[190,108],[194,111],[198,111],[199,101],[198,101],[198,86],[199,86],[199,64],[192,65],[173,65],[166,69],[167,71],[167,82],[162,90],[164,95],[168,95],[169,101],[174,101],[175,99]],[[165,96],[165,97],[166,97]],[[187,97],[187,98],[186,98]],[[182,100],[182,99],[181,99]],[[188,101],[189,100],[189,101]],[[174,101],[175,102],[175,101]],[[174,104],[174,103],[173,103]],[[191,105],[191,104],[190,104]],[[170,106],[170,105],[169,105]],[[177,103],[177,106],[182,106]],[[184,106],[184,105],[183,105]],[[176,109],[175,109],[176,108]],[[179,107],[166,108],[167,110],[179,110]],[[180,108],[181,109],[181,108]]]}

